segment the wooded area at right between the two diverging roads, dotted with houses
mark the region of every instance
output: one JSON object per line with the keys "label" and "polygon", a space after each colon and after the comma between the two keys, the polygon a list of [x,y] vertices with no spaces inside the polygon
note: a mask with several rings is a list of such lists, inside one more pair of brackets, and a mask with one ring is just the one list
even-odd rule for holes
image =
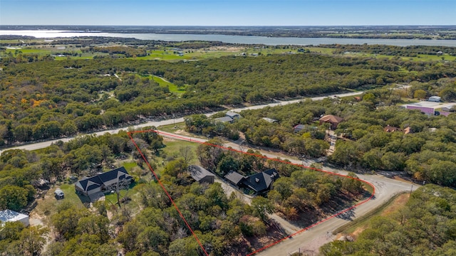
{"label": "wooded area at right between the two diverging roads, dotted with houses", "polygon": [[[396,106],[401,97],[417,92],[440,94],[455,100],[454,79],[412,82],[407,90],[388,87],[361,96],[306,100],[298,104],[266,107],[241,112],[234,123],[216,122],[202,115],[186,118],[186,129],[209,135],[238,139],[254,146],[282,149],[295,156],[324,156],[328,149],[328,124],[320,124],[323,114],[343,118],[334,131],[339,139],[328,161],[358,171],[407,171],[414,179],[445,186],[456,182],[456,114],[428,116],[419,110]],[[425,91],[426,90],[426,91]],[[218,117],[218,116],[215,116]],[[264,117],[277,122],[266,122]],[[303,129],[294,131],[297,124]],[[397,127],[385,132],[385,127]],[[410,133],[404,129],[409,127]]]}

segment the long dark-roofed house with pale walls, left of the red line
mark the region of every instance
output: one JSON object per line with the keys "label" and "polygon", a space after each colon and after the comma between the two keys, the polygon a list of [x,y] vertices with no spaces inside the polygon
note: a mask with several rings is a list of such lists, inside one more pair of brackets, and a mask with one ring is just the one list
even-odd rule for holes
{"label": "long dark-roofed house with pale walls, left of the red line", "polygon": [[133,177],[128,174],[124,167],[106,171],[91,177],[85,177],[76,182],[76,193],[88,196],[90,201],[100,196],[105,191],[113,191],[118,186],[128,186],[133,181]]}

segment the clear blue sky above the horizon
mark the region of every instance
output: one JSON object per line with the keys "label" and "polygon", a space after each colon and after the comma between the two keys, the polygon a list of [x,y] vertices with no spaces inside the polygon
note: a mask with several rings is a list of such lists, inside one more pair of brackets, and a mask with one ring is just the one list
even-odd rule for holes
{"label": "clear blue sky above the horizon", "polygon": [[456,25],[456,0],[0,0],[1,25]]}

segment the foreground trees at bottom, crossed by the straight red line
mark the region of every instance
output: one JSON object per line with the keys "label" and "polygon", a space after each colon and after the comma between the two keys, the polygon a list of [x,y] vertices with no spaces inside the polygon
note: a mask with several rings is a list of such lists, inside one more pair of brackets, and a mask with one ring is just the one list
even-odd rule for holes
{"label": "foreground trees at bottom, crossed by the straight red line", "polygon": [[[247,239],[262,238],[269,229],[258,217],[264,213],[257,200],[249,206],[228,198],[219,183],[182,186],[175,177],[162,180],[209,255],[245,255],[253,250]],[[103,202],[95,203],[94,212],[63,203],[51,218],[57,240],[48,245],[46,255],[204,254],[157,183],[142,183],[137,189],[142,210],[135,215],[128,205],[108,218]]]}

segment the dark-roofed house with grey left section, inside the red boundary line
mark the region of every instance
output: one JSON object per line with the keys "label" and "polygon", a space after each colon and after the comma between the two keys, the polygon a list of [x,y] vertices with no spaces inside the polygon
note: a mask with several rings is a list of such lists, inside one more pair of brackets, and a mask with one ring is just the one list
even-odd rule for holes
{"label": "dark-roofed house with grey left section, inside the red boundary line", "polygon": [[253,174],[247,177],[242,176],[236,171],[232,171],[224,176],[224,178],[226,178],[227,181],[232,183],[234,186],[239,188],[248,188],[256,194],[269,191],[272,187],[272,183],[274,183],[274,181],[276,181],[279,177],[279,173],[276,169],[261,171],[258,174]]}

